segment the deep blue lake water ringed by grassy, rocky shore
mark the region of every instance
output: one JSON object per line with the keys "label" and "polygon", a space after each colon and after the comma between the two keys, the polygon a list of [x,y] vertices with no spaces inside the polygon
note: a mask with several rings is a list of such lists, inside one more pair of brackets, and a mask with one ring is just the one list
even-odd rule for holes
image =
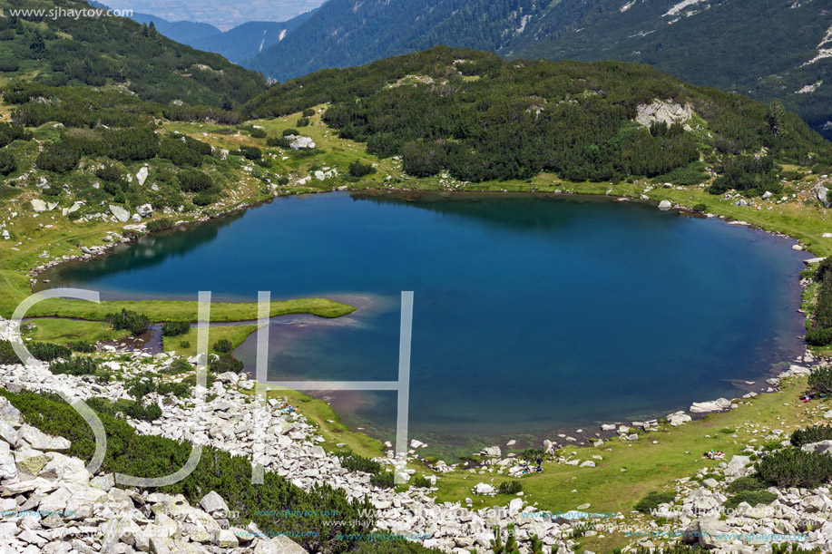
{"label": "deep blue lake water ringed by grassy, rocky shore", "polygon": [[[439,441],[664,415],[738,396],[729,380],[759,386],[802,350],[807,256],[791,240],[608,199],[412,199],[278,199],[49,278],[104,298],[270,290],[359,306],[276,320],[280,380],[395,380],[399,296],[413,290],[411,436]],[[237,355],[253,369],[253,336]],[[394,393],[326,397],[391,436]]]}

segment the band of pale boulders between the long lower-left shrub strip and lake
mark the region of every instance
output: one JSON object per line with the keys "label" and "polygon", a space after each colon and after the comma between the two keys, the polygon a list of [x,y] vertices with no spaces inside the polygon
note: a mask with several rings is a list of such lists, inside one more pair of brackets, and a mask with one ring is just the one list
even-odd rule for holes
{"label": "band of pale boulders between the long lower-left shrub strip and lake", "polygon": [[[54,375],[44,364],[26,368],[22,365],[0,366],[0,386],[44,392],[60,389],[79,398],[103,396],[115,400],[127,397],[124,381],[148,372],[162,373],[162,369],[176,358],[175,355],[164,353],[149,355],[135,352],[132,353],[130,362],[124,362],[118,353],[98,356],[103,359],[110,356],[110,360],[103,362],[102,366],[118,375],[117,380],[105,386],[88,383],[83,378],[72,375]],[[307,491],[326,481],[345,491],[349,499],[367,498],[377,508],[377,529],[430,536],[430,539],[422,541],[429,548],[449,551],[465,548],[465,551],[478,549],[484,552],[493,538],[494,525],[506,528],[509,524],[515,524],[521,544],[527,543],[531,533],[537,533],[547,545],[547,550],[549,546],[557,544],[560,545],[561,552],[571,551],[573,543],[564,537],[564,531],[570,523],[521,518],[520,511],[535,510],[533,506],[526,505],[522,498],[515,498],[505,507],[475,510],[470,502],[438,503],[430,496],[431,491],[425,488],[414,487],[401,492],[377,488],[370,483],[367,474],[347,471],[341,467],[338,457],[328,455],[320,446],[324,442],[323,437],[302,414],[283,412],[279,403],[273,399],[265,406],[254,403],[252,395],[245,394],[253,386],[254,382],[245,375],[220,374],[210,389],[204,391],[205,394],[216,397],[202,406],[201,410],[193,405],[192,399],[185,401],[168,396],[165,398],[162,419],[153,423],[128,421],[138,433],[210,444],[226,452],[248,456],[251,460],[262,463],[267,471],[275,471]],[[162,402],[162,398],[155,393],[147,398]],[[262,433],[264,430],[266,433]],[[265,442],[263,436],[268,437]],[[43,440],[43,437],[38,437],[37,440]],[[3,465],[2,453],[0,452],[0,467]],[[27,451],[22,456],[25,457],[22,462],[33,466],[43,462],[45,467],[49,462],[38,459],[36,452]],[[393,452],[378,461],[390,470],[396,467]],[[502,461],[494,459],[494,462]],[[503,466],[494,467],[503,469]],[[437,467],[436,471],[443,469]],[[407,472],[409,476],[414,471]],[[430,477],[431,481],[436,481],[435,475]],[[201,509],[209,516],[222,510],[223,502],[218,496],[209,495],[201,501]],[[62,497],[55,497],[54,500],[60,503]],[[146,501],[166,502],[162,497],[155,496],[152,501]],[[110,520],[115,525],[113,520],[117,518]],[[139,520],[133,519],[132,523],[142,527]],[[132,523],[123,523],[131,529],[129,534],[134,534]],[[153,524],[162,525],[166,529],[171,526],[167,520]],[[211,531],[207,531],[210,534]],[[224,533],[218,540],[224,544],[225,539],[231,539],[228,533]],[[213,548],[220,548],[219,543]]]}

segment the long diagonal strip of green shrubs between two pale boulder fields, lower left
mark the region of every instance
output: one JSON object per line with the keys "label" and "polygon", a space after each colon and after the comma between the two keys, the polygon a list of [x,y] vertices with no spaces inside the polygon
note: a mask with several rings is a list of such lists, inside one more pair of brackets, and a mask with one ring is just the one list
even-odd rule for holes
{"label": "long diagonal strip of green shrubs between two pale boulder fields, lower left", "polygon": [[[31,393],[12,394],[0,390],[20,410],[26,423],[44,433],[62,436],[72,442],[67,455],[89,461],[95,451],[93,432],[83,418],[63,402]],[[91,399],[92,400],[92,399]],[[94,409],[94,408],[93,408]],[[107,433],[107,451],[102,471],[120,472],[139,477],[161,477],[181,468],[188,460],[191,445],[159,436],[142,436],[129,423],[101,414]],[[362,540],[336,539],[338,535],[368,533],[375,527],[375,509],[369,501],[349,501],[344,491],[322,483],[310,491],[292,485],[274,471],[266,471],[262,484],[251,484],[251,462],[247,457],[232,456],[210,446],[202,449],[196,469],[184,480],[166,485],[157,491],[182,494],[191,505],[210,491],[216,491],[232,510],[240,511],[235,526],[254,521],[260,530],[270,533],[292,533],[308,551],[340,554],[359,549]],[[392,480],[392,476],[391,476]],[[268,506],[266,505],[268,504]],[[268,512],[266,510],[269,510]],[[272,511],[273,510],[273,511]],[[282,518],[278,510],[307,510],[309,513],[338,512],[338,520],[328,516]],[[406,541],[402,541],[402,544]],[[369,552],[383,548],[369,543]],[[386,548],[386,547],[385,547]],[[408,547],[409,548],[409,547]],[[424,552],[418,545],[416,552]],[[404,550],[408,551],[408,550]]]}

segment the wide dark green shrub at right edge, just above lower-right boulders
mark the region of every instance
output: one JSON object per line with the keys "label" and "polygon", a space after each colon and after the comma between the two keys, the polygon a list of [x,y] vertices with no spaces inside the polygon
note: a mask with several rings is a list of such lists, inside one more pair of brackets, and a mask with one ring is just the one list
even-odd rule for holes
{"label": "wide dark green shrub at right edge, just above lower-right boulders", "polygon": [[832,481],[832,456],[788,448],[757,462],[759,479],[781,488],[814,489]]}

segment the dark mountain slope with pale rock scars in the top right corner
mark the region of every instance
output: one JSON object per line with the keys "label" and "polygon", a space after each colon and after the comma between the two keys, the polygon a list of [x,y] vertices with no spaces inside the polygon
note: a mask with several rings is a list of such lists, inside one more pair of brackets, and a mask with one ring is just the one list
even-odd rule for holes
{"label": "dark mountain slope with pale rock scars in the top right corner", "polygon": [[[571,2],[573,0],[565,0]],[[576,24],[503,53],[650,63],[692,83],[781,99],[832,138],[832,4],[818,0],[590,0]],[[543,22],[544,23],[544,22]]]}

